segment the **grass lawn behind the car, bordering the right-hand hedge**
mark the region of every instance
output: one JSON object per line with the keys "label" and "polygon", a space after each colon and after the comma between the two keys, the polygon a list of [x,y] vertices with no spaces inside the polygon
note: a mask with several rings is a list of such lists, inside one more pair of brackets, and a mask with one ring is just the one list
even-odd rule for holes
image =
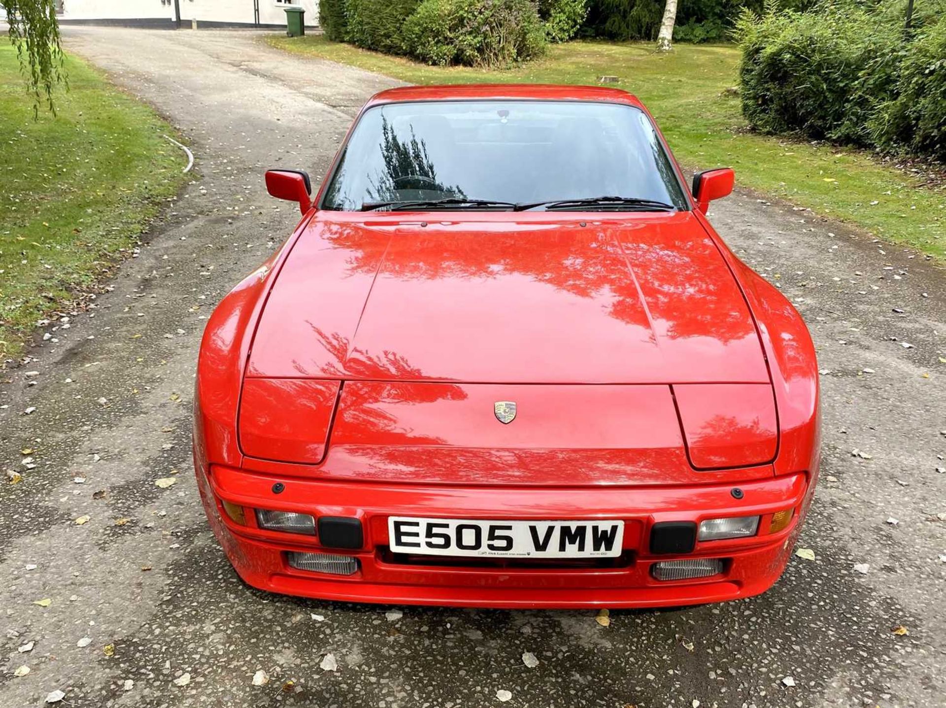
{"label": "grass lawn behind the car, bordering the right-hand hedge", "polygon": [[677,44],[673,53],[658,55],[652,44],[570,42],[552,45],[540,61],[484,71],[427,66],[318,35],[270,35],[266,41],[411,83],[596,84],[600,76],[616,76],[619,88],[647,104],[685,166],[735,168],[737,184],[946,256],[946,187],[919,188],[900,170],[882,167],[858,150],[746,133],[739,98],[723,95],[737,83],[739,53],[730,45]]}

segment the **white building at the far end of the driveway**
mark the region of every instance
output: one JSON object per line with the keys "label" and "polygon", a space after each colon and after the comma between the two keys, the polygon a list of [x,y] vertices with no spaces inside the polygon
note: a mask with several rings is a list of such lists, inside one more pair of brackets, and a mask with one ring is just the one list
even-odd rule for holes
{"label": "white building at the far end of the driveway", "polygon": [[306,10],[306,27],[319,25],[319,0],[61,0],[62,25],[286,27],[286,8]]}

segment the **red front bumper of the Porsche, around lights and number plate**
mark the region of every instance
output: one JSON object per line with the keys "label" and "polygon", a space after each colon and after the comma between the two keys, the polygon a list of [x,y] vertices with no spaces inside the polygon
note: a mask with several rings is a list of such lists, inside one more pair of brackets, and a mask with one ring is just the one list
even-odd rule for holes
{"label": "red front bumper of the Porsche, around lights and number plate", "polygon": [[[201,499],[223,549],[247,583],[274,593],[326,600],[490,608],[634,608],[720,602],[768,590],[779,578],[811,500],[804,473],[739,485],[707,487],[417,487],[325,482],[277,477],[246,469],[198,466]],[[284,489],[273,492],[273,485]],[[220,501],[245,507],[358,518],[363,547],[328,549],[312,536],[267,531],[233,522]],[[649,552],[656,522],[771,514],[794,508],[782,531],[739,540],[697,541],[684,556]],[[464,564],[430,566],[387,552],[388,516],[470,519],[622,519],[622,562],[585,567]],[[252,517],[252,515],[250,515]],[[763,516],[764,519],[764,516]],[[289,566],[287,553],[341,553],[358,558],[355,575],[324,575]],[[658,581],[654,563],[683,558],[725,558],[718,575]]]}

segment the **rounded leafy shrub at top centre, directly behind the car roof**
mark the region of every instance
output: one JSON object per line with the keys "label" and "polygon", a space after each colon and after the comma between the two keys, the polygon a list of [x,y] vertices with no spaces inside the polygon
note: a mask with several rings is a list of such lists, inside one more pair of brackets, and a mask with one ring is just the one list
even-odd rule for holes
{"label": "rounded leafy shrub at top centre, directly behind the car roof", "polygon": [[530,0],[423,0],[403,26],[404,48],[431,64],[505,66],[545,49]]}

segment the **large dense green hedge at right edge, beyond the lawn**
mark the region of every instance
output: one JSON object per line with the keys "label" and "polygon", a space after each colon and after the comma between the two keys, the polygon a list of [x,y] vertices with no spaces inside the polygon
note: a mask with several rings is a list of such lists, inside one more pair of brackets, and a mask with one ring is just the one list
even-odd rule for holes
{"label": "large dense green hedge at right edge, beyond the lawn", "polygon": [[889,6],[745,12],[735,31],[743,114],[764,133],[943,157],[946,17],[927,17],[911,34]]}

